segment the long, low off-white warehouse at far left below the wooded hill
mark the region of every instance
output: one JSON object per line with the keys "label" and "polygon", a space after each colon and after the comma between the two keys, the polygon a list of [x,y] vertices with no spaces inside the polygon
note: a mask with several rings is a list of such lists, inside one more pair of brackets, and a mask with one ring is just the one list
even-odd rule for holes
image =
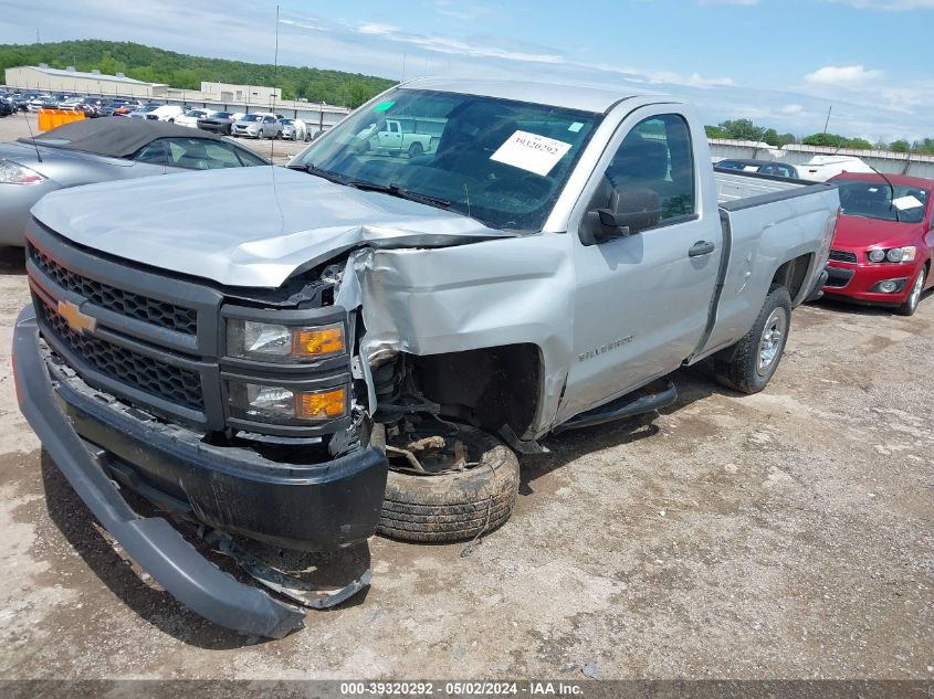
{"label": "long, low off-white warehouse at far left below the wooded hill", "polygon": [[124,97],[139,97],[141,99],[165,98],[168,85],[159,83],[144,83],[123,73],[105,75],[101,71],[75,71],[67,67],[64,71],[50,68],[44,63],[39,65],[21,65],[7,68],[7,87],[23,91],[74,93],[81,95],[120,95]]}

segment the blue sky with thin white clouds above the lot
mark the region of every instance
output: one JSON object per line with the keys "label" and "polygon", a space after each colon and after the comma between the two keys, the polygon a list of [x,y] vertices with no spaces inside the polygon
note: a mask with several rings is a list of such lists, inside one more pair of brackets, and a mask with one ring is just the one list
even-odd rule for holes
{"label": "blue sky with thin white clouds above the lot", "polygon": [[[707,124],[934,137],[934,0],[279,0],[281,64],[665,93]],[[134,41],[272,63],[274,0],[0,0],[0,43]]]}

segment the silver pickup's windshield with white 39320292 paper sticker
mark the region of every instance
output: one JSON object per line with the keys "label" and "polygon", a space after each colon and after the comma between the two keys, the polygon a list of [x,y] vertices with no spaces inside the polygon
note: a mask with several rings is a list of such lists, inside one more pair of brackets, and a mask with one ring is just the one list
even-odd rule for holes
{"label": "silver pickup's windshield with white 39320292 paper sticker", "polygon": [[541,231],[601,115],[420,89],[351,114],[291,167],[420,197],[490,227]]}

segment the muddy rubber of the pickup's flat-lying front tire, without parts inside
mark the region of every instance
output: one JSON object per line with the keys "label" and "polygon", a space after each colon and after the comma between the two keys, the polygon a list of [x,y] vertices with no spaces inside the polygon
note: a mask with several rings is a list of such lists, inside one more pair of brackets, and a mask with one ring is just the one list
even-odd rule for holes
{"label": "muddy rubber of the pickup's flat-lying front tire, without parts inside", "polygon": [[479,454],[479,465],[437,476],[390,468],[378,533],[400,541],[463,541],[490,532],[510,518],[518,495],[516,455],[475,427],[459,425],[455,436],[468,444],[469,452]]}

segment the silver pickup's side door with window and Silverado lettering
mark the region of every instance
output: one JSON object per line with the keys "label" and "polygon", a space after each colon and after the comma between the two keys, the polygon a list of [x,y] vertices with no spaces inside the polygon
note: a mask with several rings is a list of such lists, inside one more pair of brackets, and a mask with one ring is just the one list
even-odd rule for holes
{"label": "silver pickup's side door with window and Silverado lettering", "polygon": [[[704,210],[697,170],[710,165],[693,145],[704,134],[665,109],[623,119],[571,215],[575,358],[559,420],[678,369],[704,332],[723,233],[716,208]],[[654,192],[658,215],[628,236],[588,240],[581,226],[599,221],[615,190],[620,200]]]}

